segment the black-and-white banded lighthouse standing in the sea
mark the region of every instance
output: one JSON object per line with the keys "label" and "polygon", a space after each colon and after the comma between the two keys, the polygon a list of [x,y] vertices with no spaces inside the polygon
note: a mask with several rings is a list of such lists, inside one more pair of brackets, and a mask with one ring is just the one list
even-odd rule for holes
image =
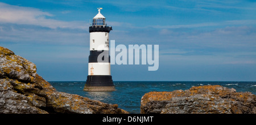
{"label": "black-and-white banded lighthouse standing in the sea", "polygon": [[90,55],[88,76],[84,86],[85,91],[113,91],[115,90],[110,74],[109,32],[112,27],[106,25],[106,18],[101,14],[94,16],[90,32]]}

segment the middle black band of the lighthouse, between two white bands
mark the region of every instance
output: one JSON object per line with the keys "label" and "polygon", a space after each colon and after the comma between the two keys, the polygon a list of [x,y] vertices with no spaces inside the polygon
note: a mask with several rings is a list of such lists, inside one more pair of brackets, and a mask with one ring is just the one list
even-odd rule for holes
{"label": "middle black band of the lighthouse, between two white bands", "polygon": [[101,58],[102,63],[110,63],[109,50],[90,50],[89,63],[97,63],[98,58]]}

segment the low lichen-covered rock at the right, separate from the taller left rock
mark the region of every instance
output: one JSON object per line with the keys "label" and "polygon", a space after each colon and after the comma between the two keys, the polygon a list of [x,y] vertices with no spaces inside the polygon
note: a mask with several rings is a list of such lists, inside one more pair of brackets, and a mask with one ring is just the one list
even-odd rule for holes
{"label": "low lichen-covered rock at the right, separate from the taller left rock", "polygon": [[205,85],[173,92],[149,92],[142,97],[141,113],[255,114],[256,96],[220,85]]}

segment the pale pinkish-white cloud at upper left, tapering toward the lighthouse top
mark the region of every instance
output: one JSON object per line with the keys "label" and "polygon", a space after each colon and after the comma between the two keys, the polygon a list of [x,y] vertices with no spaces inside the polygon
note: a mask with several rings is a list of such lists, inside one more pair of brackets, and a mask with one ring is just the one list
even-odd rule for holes
{"label": "pale pinkish-white cloud at upper left, tapering toward the lighthouse top", "polygon": [[85,21],[47,19],[54,15],[31,7],[20,7],[0,2],[0,23],[39,25],[48,28],[87,29]]}

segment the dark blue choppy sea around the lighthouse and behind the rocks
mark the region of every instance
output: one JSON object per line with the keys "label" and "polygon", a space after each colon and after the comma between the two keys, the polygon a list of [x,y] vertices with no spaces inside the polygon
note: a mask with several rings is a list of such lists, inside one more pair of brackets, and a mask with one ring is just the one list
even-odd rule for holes
{"label": "dark blue choppy sea around the lighthouse and behind the rocks", "polygon": [[256,81],[114,81],[113,92],[85,92],[85,81],[49,81],[59,92],[78,94],[92,100],[108,104],[118,104],[118,107],[131,114],[139,114],[141,98],[148,92],[171,92],[186,90],[200,85],[222,85],[234,88],[237,92],[256,94]]}

